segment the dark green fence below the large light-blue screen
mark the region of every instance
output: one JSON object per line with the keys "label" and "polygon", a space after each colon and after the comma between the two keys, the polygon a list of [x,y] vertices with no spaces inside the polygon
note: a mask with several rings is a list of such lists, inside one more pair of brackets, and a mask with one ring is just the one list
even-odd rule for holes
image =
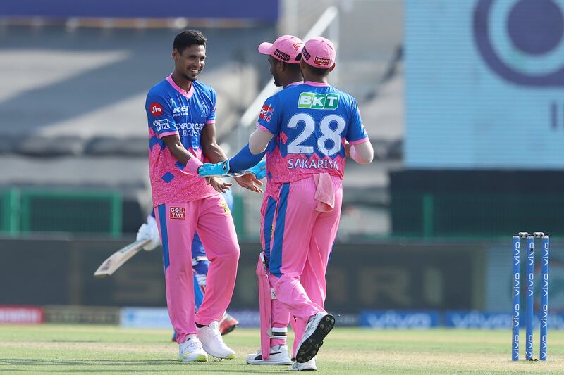
{"label": "dark green fence below the large light-blue screen", "polygon": [[562,194],[392,193],[390,210],[393,236],[564,234]]}

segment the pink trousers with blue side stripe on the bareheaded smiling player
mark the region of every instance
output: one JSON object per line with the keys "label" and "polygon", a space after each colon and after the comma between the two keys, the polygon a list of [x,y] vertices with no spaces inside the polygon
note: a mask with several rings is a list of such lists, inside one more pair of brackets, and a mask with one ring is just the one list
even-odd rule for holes
{"label": "pink trousers with blue side stripe on the bareheaded smiling player", "polygon": [[[208,325],[219,321],[231,302],[240,253],[235,225],[219,195],[159,205],[155,218],[163,245],[168,315],[177,333],[176,341],[183,343],[186,336],[197,333],[196,322]],[[191,251],[196,230],[211,262],[206,293],[197,314]]]}

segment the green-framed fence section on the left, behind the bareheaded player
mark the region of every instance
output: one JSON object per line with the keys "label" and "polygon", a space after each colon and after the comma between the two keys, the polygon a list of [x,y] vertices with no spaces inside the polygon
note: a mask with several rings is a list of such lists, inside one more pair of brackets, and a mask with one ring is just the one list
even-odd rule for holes
{"label": "green-framed fence section on the left, behind the bareheaded player", "polygon": [[116,191],[8,189],[1,193],[0,231],[121,235],[122,198]]}

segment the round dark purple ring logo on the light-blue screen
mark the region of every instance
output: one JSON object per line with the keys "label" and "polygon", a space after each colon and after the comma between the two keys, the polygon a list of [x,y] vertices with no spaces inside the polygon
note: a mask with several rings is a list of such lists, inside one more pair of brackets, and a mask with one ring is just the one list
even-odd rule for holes
{"label": "round dark purple ring logo on the light-blue screen", "polygon": [[564,0],[477,0],[474,39],[505,80],[564,86]]}

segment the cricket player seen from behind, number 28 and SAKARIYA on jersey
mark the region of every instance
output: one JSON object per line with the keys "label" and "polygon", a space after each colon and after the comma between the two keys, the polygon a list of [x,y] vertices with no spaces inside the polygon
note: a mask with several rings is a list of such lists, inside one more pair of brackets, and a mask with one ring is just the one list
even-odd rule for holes
{"label": "cricket player seen from behind, number 28 and SAKARIYA on jersey", "polygon": [[305,42],[300,61],[305,82],[266,100],[249,140],[253,154],[273,138],[278,144],[266,155],[266,170],[281,184],[269,272],[276,298],[298,322],[295,371],[316,369],[315,355],[335,324],[324,310],[325,273],[341,217],[345,144],[357,163],[374,156],[355,99],[328,83],[335,57],[328,39]]}

